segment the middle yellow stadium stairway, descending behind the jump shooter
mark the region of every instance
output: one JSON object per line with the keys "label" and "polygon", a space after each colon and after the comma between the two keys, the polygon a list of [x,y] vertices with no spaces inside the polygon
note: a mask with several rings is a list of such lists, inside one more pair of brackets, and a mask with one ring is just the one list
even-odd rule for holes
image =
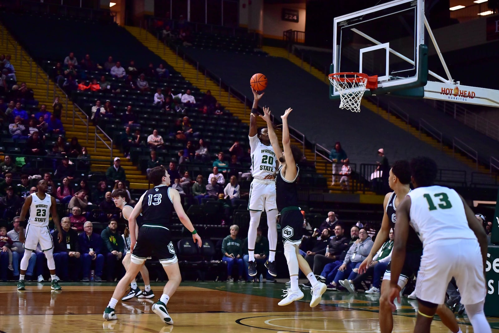
{"label": "middle yellow stadium stairway, descending behind the jump shooter", "polygon": [[[151,51],[162,57],[165,61],[167,61],[175,70],[178,72],[182,73],[182,75],[189,80],[193,85],[199,87],[200,89],[203,90],[211,90],[212,94],[217,97],[220,101],[223,101],[224,105],[227,106],[227,108],[241,121],[244,123],[249,124],[249,114],[250,114],[250,108],[247,106],[246,107],[246,115],[245,115],[245,105],[243,102],[241,102],[237,98],[230,98],[229,99],[229,93],[225,90],[222,90],[221,94],[217,93],[219,91],[220,86],[218,82],[215,82],[211,80],[210,78],[206,79],[206,84],[205,84],[205,76],[201,74],[196,67],[191,65],[188,62],[184,62],[183,58],[180,56],[177,56],[175,52],[173,52],[169,47],[165,47],[163,43],[159,42],[158,39],[146,31],[145,29],[139,28],[139,27],[134,27],[134,26],[125,26],[125,28],[133,35],[135,38],[137,38],[140,42],[142,42],[145,46],[147,46]],[[324,76],[324,75],[322,75]],[[263,126],[264,123],[261,120],[258,120],[258,125]],[[278,133],[279,135],[280,133]],[[291,139],[291,143],[295,144],[297,146],[300,146],[301,143],[298,141]],[[321,174],[324,178],[327,180],[327,186],[330,192],[332,193],[339,193],[341,192],[341,189],[338,184],[335,186],[331,186],[332,182],[332,176],[331,176],[331,167],[330,164],[327,163],[327,160],[317,156],[315,157],[315,154],[313,151],[310,149],[305,149],[305,156],[307,160],[314,160],[317,158],[317,161],[320,163],[317,163],[316,165],[316,172],[318,174]],[[327,168],[329,166],[329,168]],[[326,171],[326,169],[328,169]]]}

